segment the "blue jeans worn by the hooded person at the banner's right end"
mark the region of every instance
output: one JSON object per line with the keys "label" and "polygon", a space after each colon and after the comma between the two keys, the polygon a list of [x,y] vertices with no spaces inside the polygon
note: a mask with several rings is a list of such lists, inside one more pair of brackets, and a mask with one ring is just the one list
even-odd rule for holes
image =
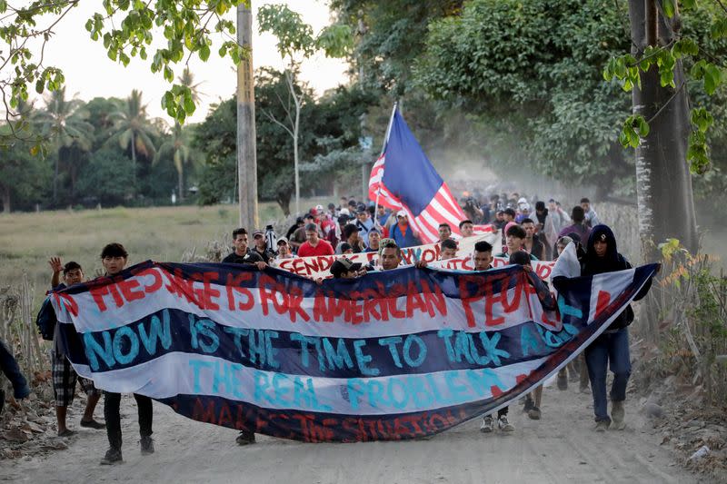
{"label": "blue jeans worn by the hooded person at the banner's right end", "polygon": [[596,421],[610,422],[606,399],[606,370],[610,368],[613,373],[611,400],[626,400],[626,384],[631,375],[629,331],[622,328],[613,333],[602,334],[583,351],[583,354],[593,390],[593,412]]}

